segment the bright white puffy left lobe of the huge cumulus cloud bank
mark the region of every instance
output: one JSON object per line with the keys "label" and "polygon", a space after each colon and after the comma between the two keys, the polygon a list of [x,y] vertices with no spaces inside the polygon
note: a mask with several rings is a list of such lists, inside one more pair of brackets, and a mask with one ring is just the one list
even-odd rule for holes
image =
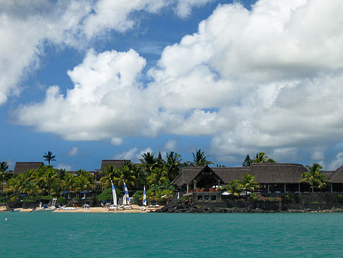
{"label": "bright white puffy left lobe of the huge cumulus cloud bank", "polygon": [[59,86],[48,88],[44,102],[20,108],[18,119],[71,141],[111,138],[119,143],[121,136],[140,134],[150,119],[150,105],[136,81],[144,66],[145,59],[134,50],[90,50],[82,64],[68,71],[73,89],[62,95]]}

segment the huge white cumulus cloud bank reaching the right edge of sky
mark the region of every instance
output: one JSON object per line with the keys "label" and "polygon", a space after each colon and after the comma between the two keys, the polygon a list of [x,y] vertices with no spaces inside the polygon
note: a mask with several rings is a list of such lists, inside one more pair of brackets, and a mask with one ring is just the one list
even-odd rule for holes
{"label": "huge white cumulus cloud bank reaching the right edge of sky", "polygon": [[219,5],[164,49],[148,85],[135,50],[91,50],[68,71],[74,88],[50,87],[19,122],[69,140],[212,136],[219,158],[325,146],[343,135],[342,11],[339,0]]}

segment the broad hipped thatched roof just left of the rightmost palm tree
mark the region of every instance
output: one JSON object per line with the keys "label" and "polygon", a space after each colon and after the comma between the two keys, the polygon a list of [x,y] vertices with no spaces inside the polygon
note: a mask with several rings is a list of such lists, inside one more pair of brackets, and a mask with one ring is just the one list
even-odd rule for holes
{"label": "broad hipped thatched roof just left of the rightmost palm tree", "polygon": [[251,175],[259,184],[298,184],[306,168],[295,163],[252,163]]}

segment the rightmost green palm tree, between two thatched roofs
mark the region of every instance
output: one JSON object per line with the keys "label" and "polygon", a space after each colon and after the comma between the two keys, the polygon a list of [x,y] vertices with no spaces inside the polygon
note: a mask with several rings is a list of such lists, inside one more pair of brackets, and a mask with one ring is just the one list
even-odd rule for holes
{"label": "rightmost green palm tree, between two thatched roofs", "polygon": [[318,163],[313,163],[311,166],[306,165],[307,172],[303,172],[300,182],[306,182],[311,185],[311,192],[314,188],[322,189],[326,187],[327,178],[322,174],[323,167]]}

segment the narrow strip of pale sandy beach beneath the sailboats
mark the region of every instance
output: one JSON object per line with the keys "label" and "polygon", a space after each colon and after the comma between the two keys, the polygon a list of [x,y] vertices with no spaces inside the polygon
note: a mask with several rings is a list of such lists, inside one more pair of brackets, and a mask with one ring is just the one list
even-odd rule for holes
{"label": "narrow strip of pale sandy beach beneath the sailboats", "polygon": [[[130,209],[125,209],[125,210],[119,210],[119,211],[107,211],[107,209],[102,208],[102,207],[90,207],[89,209],[83,209],[82,207],[79,207],[78,209],[75,210],[57,210],[55,209],[52,212],[56,213],[61,213],[61,212],[66,212],[66,213],[147,213],[149,211],[155,211],[157,209],[161,209],[163,206],[157,207],[157,208],[148,208],[145,211],[140,210],[140,206],[133,204],[133,208]],[[32,212],[32,209],[23,209],[23,208],[18,208],[15,209],[16,211],[19,210],[20,212]],[[39,208],[37,207],[35,211],[39,210],[44,210],[44,208]],[[6,211],[6,206],[0,206],[0,211]]]}

